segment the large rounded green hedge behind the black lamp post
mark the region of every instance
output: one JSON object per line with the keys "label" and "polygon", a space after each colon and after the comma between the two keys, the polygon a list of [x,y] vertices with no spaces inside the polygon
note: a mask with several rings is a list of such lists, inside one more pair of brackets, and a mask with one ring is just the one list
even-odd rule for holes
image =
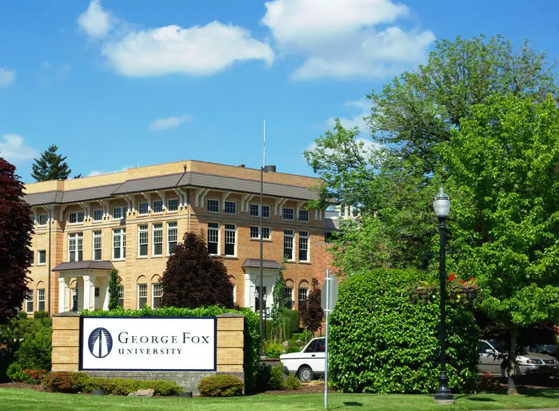
{"label": "large rounded green hedge behind the black lamp post", "polygon": [[[439,386],[439,303],[414,305],[407,288],[426,273],[378,269],[340,286],[330,319],[330,372],[344,392],[430,393]],[[447,374],[453,391],[474,388],[479,329],[463,305],[447,304]]]}

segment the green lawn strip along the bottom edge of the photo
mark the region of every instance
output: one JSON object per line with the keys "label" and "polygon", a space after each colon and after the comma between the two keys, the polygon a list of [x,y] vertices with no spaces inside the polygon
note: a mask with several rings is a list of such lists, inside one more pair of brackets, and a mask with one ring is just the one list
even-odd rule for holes
{"label": "green lawn strip along the bottom edge of the photo", "polygon": [[[456,405],[433,403],[433,396],[329,394],[329,410],[499,410],[559,406],[559,389],[506,394],[456,395]],[[321,410],[324,394],[259,394],[236,398],[136,398],[55,394],[28,389],[0,389],[0,410]]]}

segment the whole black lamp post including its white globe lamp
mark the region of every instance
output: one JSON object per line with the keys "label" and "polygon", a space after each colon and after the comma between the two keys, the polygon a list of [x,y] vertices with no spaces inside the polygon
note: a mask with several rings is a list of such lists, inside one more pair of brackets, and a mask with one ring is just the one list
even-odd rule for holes
{"label": "whole black lamp post including its white globe lamp", "polygon": [[439,219],[440,251],[439,251],[439,280],[440,280],[440,345],[441,345],[441,371],[439,373],[439,388],[435,391],[435,402],[453,404],[454,397],[449,389],[449,376],[447,375],[447,357],[445,354],[445,313],[444,302],[447,299],[447,270],[445,262],[445,236],[447,229],[447,217],[449,217],[450,197],[442,187],[433,199],[433,208]]}

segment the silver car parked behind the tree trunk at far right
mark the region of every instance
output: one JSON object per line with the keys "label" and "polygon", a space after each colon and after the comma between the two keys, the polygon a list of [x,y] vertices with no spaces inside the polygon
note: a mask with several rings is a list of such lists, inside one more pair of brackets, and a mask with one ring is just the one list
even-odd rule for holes
{"label": "silver car parked behind the tree trunk at far right", "polygon": [[[507,361],[495,341],[479,340],[479,371],[508,378]],[[526,352],[516,356],[514,375],[559,375],[559,361],[551,355]]]}

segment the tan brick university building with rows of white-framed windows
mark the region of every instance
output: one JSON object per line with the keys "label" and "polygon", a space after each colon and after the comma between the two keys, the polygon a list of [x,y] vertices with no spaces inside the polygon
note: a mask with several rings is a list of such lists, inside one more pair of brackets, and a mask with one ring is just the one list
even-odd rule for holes
{"label": "tan brick university building with rows of white-framed windows", "polygon": [[312,279],[324,278],[333,224],[324,210],[306,209],[317,179],[263,173],[260,208],[260,176],[242,165],[189,160],[26,185],[34,259],[24,309],[106,309],[112,268],[122,277],[124,308],[157,307],[168,255],[186,231],[203,231],[210,254],[224,257],[235,303],[253,309],[262,235],[266,307],[287,254],[284,296],[298,309]]}

